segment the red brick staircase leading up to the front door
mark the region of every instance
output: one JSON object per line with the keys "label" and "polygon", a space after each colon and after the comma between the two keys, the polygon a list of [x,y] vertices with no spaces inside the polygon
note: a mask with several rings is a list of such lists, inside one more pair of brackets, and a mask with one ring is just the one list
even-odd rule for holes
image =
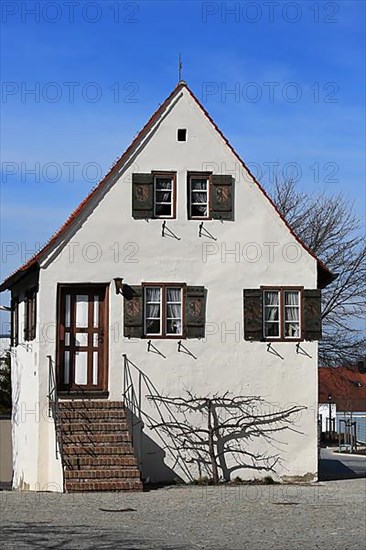
{"label": "red brick staircase leading up to the front door", "polygon": [[59,401],[65,490],[142,491],[119,401]]}

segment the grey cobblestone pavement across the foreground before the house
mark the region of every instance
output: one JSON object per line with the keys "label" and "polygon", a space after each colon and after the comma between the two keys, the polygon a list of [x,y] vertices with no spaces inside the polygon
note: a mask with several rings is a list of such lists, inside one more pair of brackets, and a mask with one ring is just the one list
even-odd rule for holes
{"label": "grey cobblestone pavement across the foreground before the house", "polygon": [[171,487],[146,493],[1,492],[8,549],[360,550],[366,480]]}

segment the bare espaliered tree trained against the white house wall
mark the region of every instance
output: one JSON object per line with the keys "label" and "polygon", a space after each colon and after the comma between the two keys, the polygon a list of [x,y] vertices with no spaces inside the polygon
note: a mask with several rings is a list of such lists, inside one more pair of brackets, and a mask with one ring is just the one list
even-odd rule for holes
{"label": "bare espaliered tree trained against the white house wall", "polygon": [[[281,460],[275,433],[300,433],[295,428],[295,417],[306,408],[293,405],[276,410],[260,397],[233,397],[228,392],[212,397],[197,397],[190,392],[184,397],[147,397],[160,410],[169,411],[169,418],[150,419],[150,428],[172,441],[166,444],[166,450],[175,455],[178,446],[180,458],[186,464],[196,464],[199,475],[207,475],[214,483],[220,478],[229,481],[233,472],[242,468],[274,472]],[[257,438],[264,439],[271,451],[251,452],[249,446]]]}

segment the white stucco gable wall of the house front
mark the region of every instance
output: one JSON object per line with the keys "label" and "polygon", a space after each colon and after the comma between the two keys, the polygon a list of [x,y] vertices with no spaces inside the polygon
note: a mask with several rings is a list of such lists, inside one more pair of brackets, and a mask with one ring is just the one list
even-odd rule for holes
{"label": "white stucco gable wall of the house front", "polygon": [[[177,142],[177,128],[187,128],[187,142]],[[138,153],[100,203],[90,205],[88,215],[68,232],[57,252],[41,266],[41,342],[35,376],[38,386],[34,384],[39,399],[43,401],[47,394],[47,355],[55,357],[57,284],[112,282],[110,399],[121,399],[122,355],[127,354],[162,394],[176,396],[187,389],[200,396],[231,391],[235,395],[260,396],[282,408],[289,403],[304,405],[308,410],[297,423],[302,433],[282,432],[278,436],[283,442],[284,463],[272,475],[283,479],[311,474],[316,478],[317,343],[303,342],[303,354],[297,353],[295,343],[275,343],[273,348],[279,354],[275,355],[267,351],[266,343],[243,339],[243,289],[261,285],[316,288],[315,259],[297,243],[185,89]],[[168,220],[167,227],[180,237],[179,241],[161,236],[161,220],[132,218],[131,175],[151,170],[177,172],[177,219]],[[199,222],[187,220],[186,173],[194,170],[230,172],[235,178],[235,221],[204,222],[217,241],[199,238]],[[233,250],[235,254],[227,253]],[[294,257],[296,261],[292,261]],[[164,281],[205,286],[207,337],[204,341],[184,341],[197,359],[178,353],[177,340],[154,341],[166,356],[164,359],[147,352],[147,340],[123,338],[123,300],[115,294],[112,281],[117,276],[130,285]],[[29,372],[27,376],[33,374]],[[29,392],[29,388],[24,391]],[[156,414],[146,399],[143,409]],[[146,434],[160,446],[154,432],[146,429]],[[59,462],[51,451],[52,438],[52,426],[41,423],[38,474],[30,471],[30,476],[38,475],[42,484],[61,486]],[[159,453],[152,444],[150,464],[156,462]],[[165,462],[171,467],[173,458],[167,455]],[[146,472],[150,481],[158,481],[163,475],[148,464]],[[175,472],[182,473],[179,468]],[[248,470],[235,475],[252,478],[267,474]]]}

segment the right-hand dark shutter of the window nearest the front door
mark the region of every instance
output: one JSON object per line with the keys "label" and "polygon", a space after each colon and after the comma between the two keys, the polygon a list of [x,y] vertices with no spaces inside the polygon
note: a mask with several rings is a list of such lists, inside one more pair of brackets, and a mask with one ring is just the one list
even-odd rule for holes
{"label": "right-hand dark shutter of the window nearest the front door", "polygon": [[203,286],[187,286],[185,296],[185,336],[204,338],[206,322],[206,290]]}

